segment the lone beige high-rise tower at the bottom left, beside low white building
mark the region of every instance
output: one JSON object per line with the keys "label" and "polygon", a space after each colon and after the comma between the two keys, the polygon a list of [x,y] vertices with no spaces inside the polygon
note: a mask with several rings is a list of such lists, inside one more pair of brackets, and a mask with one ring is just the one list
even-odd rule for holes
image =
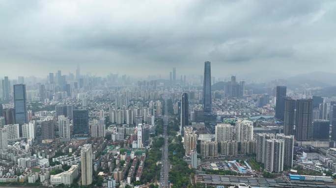
{"label": "lone beige high-rise tower at the bottom left, beside low white building", "polygon": [[81,148],[82,186],[92,184],[92,146],[84,144]]}

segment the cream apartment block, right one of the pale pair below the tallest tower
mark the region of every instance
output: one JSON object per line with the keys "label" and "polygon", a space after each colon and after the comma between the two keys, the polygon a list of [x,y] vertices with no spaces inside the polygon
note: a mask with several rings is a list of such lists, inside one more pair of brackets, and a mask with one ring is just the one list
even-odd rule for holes
{"label": "cream apartment block, right one of the pale pair below the tallest tower", "polygon": [[236,140],[237,141],[252,141],[253,140],[253,122],[248,120],[238,119],[236,121]]}

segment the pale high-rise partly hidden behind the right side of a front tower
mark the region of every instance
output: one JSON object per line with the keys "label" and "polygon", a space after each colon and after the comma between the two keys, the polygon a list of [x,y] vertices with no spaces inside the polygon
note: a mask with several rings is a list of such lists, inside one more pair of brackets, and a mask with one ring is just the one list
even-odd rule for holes
{"label": "pale high-rise partly hidden behind the right side of a front tower", "polygon": [[283,140],[283,166],[293,167],[294,136],[277,134],[277,139]]}

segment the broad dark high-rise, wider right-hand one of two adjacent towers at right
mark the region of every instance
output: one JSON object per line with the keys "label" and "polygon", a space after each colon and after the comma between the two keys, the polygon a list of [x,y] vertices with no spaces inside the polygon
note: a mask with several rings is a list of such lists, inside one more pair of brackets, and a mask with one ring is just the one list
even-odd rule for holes
{"label": "broad dark high-rise, wider right-hand one of two adjacent towers at right", "polygon": [[312,99],[296,101],[296,140],[309,141],[313,136]]}

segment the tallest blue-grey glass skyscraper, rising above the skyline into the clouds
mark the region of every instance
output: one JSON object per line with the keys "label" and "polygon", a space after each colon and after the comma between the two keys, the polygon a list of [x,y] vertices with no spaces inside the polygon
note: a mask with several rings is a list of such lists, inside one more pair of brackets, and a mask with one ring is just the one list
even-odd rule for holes
{"label": "tallest blue-grey glass skyscraper, rising above the skyline into the clouds", "polygon": [[203,111],[204,115],[211,114],[211,65],[210,61],[204,62],[203,80]]}

